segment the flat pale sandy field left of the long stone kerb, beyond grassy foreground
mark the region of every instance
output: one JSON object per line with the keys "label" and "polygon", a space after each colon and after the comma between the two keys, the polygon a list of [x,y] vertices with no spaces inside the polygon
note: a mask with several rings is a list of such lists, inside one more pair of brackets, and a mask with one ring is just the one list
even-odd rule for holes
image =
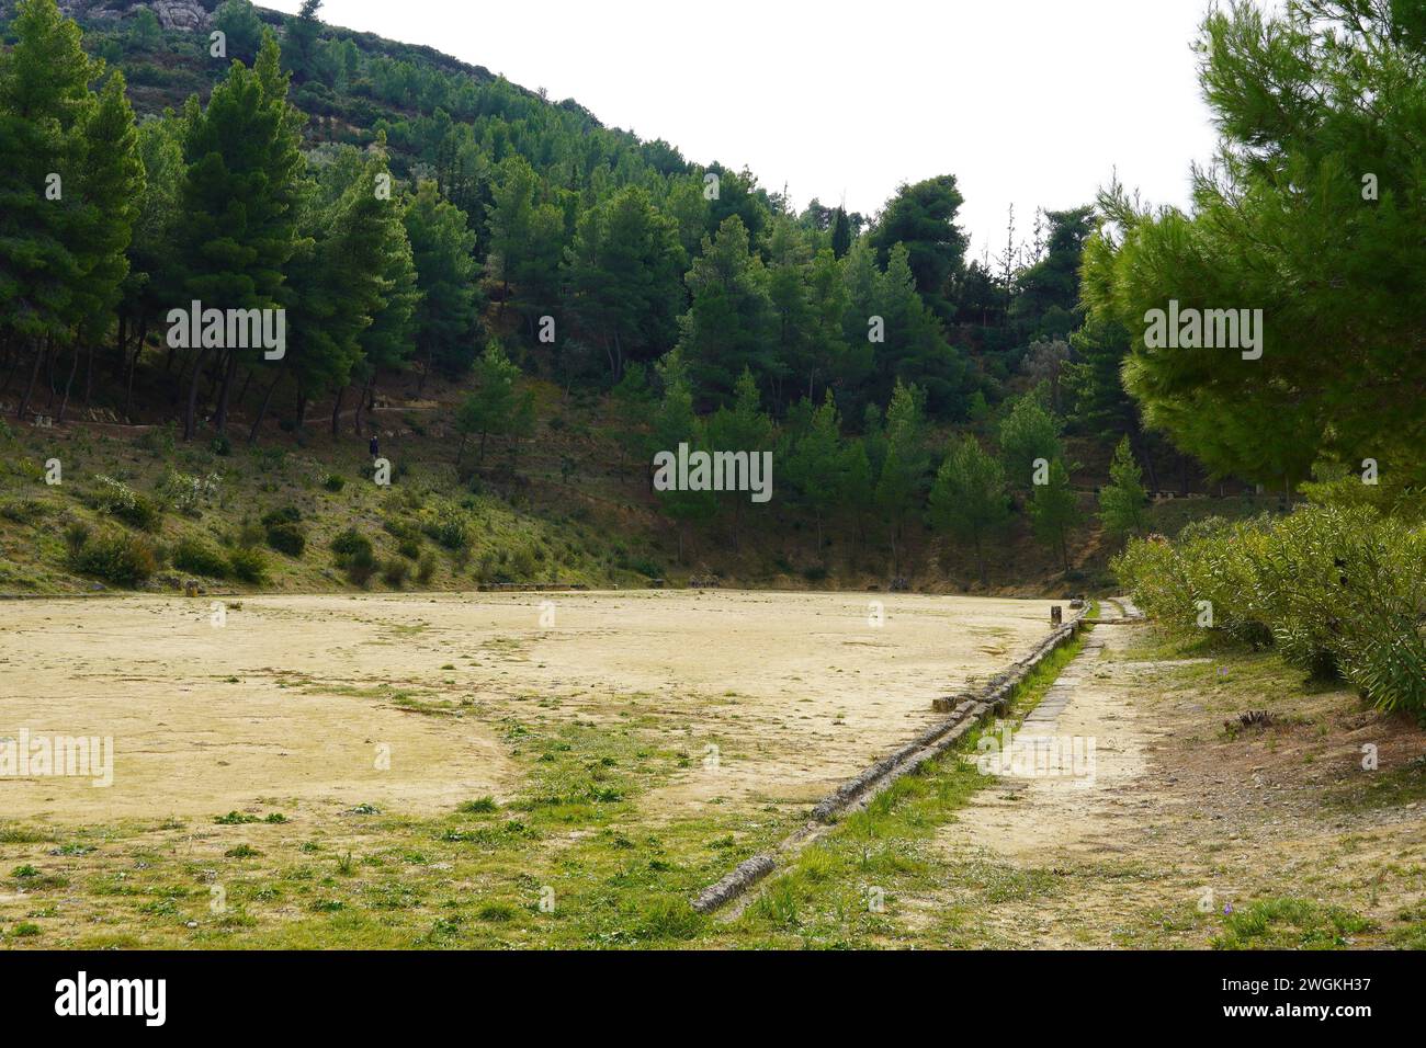
{"label": "flat pale sandy field left of the long stone kerb, beyond grassy foreground", "polygon": [[532,699],[558,700],[553,716],[613,723],[633,704],[667,723],[694,760],[655,810],[810,800],[928,723],[933,697],[1024,654],[1050,617],[1050,602],[878,593],[240,603],[222,626],[207,597],[0,605],[0,739],[111,737],[116,753],[110,787],[0,777],[0,813],[449,810],[519,787],[499,726]]}

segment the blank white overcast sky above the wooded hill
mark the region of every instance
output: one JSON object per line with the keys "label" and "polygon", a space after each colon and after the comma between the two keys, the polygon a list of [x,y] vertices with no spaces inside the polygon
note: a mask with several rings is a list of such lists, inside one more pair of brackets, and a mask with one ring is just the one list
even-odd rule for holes
{"label": "blank white overcast sky above the wooded hill", "polygon": [[[260,0],[297,11],[299,0]],[[1188,202],[1214,130],[1189,44],[1208,0],[327,0],[366,30],[503,73],[687,160],[747,165],[800,210],[871,215],[954,174],[973,257],[1115,168]]]}

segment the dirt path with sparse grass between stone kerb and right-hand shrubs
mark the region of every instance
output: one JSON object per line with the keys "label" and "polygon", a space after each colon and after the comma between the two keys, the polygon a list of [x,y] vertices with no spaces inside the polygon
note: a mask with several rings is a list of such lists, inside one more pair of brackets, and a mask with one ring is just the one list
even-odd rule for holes
{"label": "dirt path with sparse grass between stone kerb and right-hand shrubs", "polygon": [[[1094,630],[1011,750],[1022,756],[1035,736],[1092,741],[1092,761],[1048,776],[1021,760],[978,791],[938,833],[943,887],[907,900],[908,923],[954,910],[974,913],[980,945],[1105,948],[1206,947],[1228,914],[1281,900],[1308,914],[1292,918],[1301,927],[1266,927],[1253,942],[1380,945],[1419,920],[1426,806],[1412,761],[1426,736],[1346,692],[1302,694],[1272,656],[1231,672],[1211,657],[1145,657],[1148,637]],[[1258,707],[1275,714],[1268,729],[1224,727]],[[1370,773],[1365,740],[1382,754]],[[1403,793],[1383,803],[1392,776]]]}

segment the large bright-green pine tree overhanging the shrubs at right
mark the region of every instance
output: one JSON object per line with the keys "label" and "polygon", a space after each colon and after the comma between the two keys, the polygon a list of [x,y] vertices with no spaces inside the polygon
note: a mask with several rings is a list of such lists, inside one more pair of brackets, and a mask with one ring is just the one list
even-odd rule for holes
{"label": "large bright-green pine tree overhanging the shrubs at right", "polygon": [[[1134,337],[1124,378],[1145,423],[1214,473],[1291,492],[1319,459],[1370,455],[1426,478],[1419,11],[1212,10],[1196,43],[1222,143],[1192,212],[1101,194],[1082,297]],[[1222,311],[1219,345],[1147,338],[1175,301]],[[1232,338],[1229,312],[1252,337]]]}

